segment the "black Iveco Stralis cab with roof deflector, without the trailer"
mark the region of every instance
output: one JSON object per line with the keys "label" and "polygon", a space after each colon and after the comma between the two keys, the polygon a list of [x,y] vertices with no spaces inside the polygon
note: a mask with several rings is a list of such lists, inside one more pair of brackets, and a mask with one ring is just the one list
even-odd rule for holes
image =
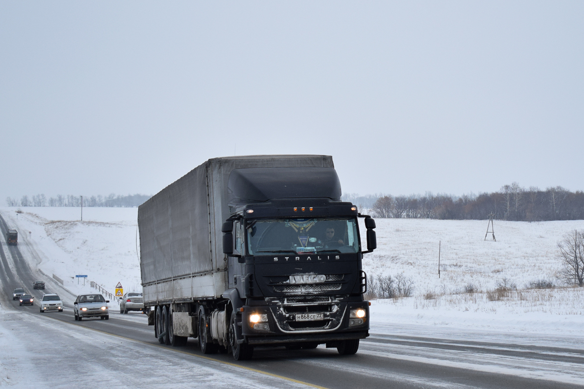
{"label": "black Iveco Stralis cab with roof deflector, without the trailer", "polygon": [[[359,339],[369,336],[361,260],[376,246],[375,225],[340,201],[336,171],[238,169],[228,188],[234,213],[222,229],[225,296],[234,304],[241,300],[233,330],[242,347],[324,343],[356,352]],[[361,248],[360,217],[369,227],[367,250]]]}

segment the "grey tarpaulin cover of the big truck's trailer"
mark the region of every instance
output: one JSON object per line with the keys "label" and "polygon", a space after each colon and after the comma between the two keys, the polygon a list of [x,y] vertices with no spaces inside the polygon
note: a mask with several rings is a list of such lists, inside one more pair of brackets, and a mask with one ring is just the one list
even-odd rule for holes
{"label": "grey tarpaulin cover of the big truck's trailer", "polygon": [[332,157],[324,155],[214,158],[140,205],[140,267],[145,304],[221,296],[227,289],[221,225],[231,213],[230,174],[235,169],[266,167],[334,166]]}

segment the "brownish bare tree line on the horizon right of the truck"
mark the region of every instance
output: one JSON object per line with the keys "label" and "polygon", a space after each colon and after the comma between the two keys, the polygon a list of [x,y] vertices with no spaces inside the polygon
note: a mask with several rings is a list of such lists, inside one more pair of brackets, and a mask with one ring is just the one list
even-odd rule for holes
{"label": "brownish bare tree line on the horizon right of the truck", "polygon": [[488,219],[494,213],[502,220],[580,220],[584,219],[584,192],[562,187],[540,190],[517,183],[503,185],[498,192],[479,195],[384,195],[370,208],[376,218]]}

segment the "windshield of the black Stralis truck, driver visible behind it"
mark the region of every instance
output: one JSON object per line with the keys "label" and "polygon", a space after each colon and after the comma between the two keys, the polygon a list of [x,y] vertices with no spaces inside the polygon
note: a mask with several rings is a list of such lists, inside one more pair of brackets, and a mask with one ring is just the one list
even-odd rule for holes
{"label": "windshield of the black Stralis truck, driver visible behind it", "polygon": [[248,253],[357,253],[354,218],[258,219],[246,225]]}

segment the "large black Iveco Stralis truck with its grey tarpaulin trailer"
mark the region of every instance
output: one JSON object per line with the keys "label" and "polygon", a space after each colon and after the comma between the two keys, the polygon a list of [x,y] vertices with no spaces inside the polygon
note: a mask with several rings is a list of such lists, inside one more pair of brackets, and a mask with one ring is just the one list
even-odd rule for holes
{"label": "large black Iveco Stralis truck with its grey tarpaulin trailer", "polygon": [[[364,253],[375,222],[340,199],[331,156],[210,159],[138,208],[148,324],[236,360],[255,346],[334,347],[369,336]],[[364,218],[367,250],[358,218]]]}

